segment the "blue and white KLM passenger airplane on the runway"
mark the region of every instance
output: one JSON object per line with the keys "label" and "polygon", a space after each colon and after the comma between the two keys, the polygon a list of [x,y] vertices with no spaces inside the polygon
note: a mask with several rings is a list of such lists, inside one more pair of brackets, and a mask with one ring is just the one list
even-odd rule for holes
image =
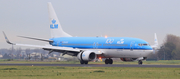
{"label": "blue and white KLM passenger airplane on the runway", "polygon": [[112,58],[120,58],[122,61],[138,61],[139,65],[147,56],[155,52],[158,46],[158,40],[155,33],[154,45],[150,46],[148,42],[139,38],[131,37],[73,37],[63,31],[57,18],[51,2],[48,2],[49,28],[51,32],[50,39],[19,36],[22,38],[49,42],[50,45],[30,45],[12,43],[3,32],[8,44],[17,46],[28,46],[42,48],[52,52],[60,52],[63,55],[76,56],[80,64],[88,64],[98,58],[105,58],[105,64],[113,64]]}

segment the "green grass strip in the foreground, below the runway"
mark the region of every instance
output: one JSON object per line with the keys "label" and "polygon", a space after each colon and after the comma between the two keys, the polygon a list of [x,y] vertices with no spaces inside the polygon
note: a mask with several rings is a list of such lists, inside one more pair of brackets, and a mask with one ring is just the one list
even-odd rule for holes
{"label": "green grass strip in the foreground, below the runway", "polygon": [[0,66],[0,79],[179,79],[180,68]]}

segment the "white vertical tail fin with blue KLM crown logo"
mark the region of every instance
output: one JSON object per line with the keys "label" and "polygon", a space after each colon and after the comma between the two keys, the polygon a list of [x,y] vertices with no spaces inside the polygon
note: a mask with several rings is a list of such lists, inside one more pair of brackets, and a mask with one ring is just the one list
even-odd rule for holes
{"label": "white vertical tail fin with blue KLM crown logo", "polygon": [[63,29],[61,28],[61,24],[57,18],[57,15],[54,11],[54,8],[53,8],[51,2],[48,2],[48,13],[49,13],[51,38],[54,38],[54,37],[71,37],[71,35],[64,32]]}

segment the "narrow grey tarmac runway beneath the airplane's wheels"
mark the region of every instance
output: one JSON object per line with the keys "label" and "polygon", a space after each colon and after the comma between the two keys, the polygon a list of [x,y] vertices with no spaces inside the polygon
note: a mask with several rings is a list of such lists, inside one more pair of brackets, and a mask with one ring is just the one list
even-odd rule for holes
{"label": "narrow grey tarmac runway beneath the airplane's wheels", "polygon": [[180,65],[132,65],[132,64],[10,64],[0,63],[0,66],[63,66],[63,67],[159,67],[180,68]]}

